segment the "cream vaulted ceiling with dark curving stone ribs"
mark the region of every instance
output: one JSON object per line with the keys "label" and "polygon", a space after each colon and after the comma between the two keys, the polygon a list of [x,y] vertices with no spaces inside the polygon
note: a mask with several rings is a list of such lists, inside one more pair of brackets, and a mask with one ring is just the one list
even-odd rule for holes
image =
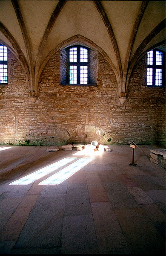
{"label": "cream vaulted ceiling with dark curving stone ribs", "polygon": [[124,91],[137,61],[165,50],[165,25],[165,1],[0,0],[0,43],[20,59],[31,89],[54,52],[82,42],[106,57]]}

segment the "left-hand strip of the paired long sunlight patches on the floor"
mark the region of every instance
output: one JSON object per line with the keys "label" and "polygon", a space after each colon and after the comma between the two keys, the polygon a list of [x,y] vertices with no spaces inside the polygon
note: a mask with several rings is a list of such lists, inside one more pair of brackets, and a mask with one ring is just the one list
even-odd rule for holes
{"label": "left-hand strip of the paired long sunlight patches on the floor", "polygon": [[33,172],[29,175],[26,175],[25,177],[20,178],[19,180],[13,181],[11,182],[9,185],[28,185],[32,182],[34,182],[35,180],[40,179],[43,176],[46,176],[47,174],[49,174],[50,172],[54,172],[55,170],[57,170],[58,168],[66,165],[67,163],[72,162],[73,160],[77,159],[77,157],[66,157],[63,158],[62,160],[53,163],[49,166],[46,166],[36,172]]}

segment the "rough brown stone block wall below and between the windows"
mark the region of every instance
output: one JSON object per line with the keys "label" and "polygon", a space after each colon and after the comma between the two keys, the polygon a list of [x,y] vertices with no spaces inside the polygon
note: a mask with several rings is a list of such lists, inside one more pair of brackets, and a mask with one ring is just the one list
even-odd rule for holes
{"label": "rough brown stone block wall below and between the windows", "polygon": [[26,74],[9,52],[9,84],[0,87],[0,144],[165,144],[165,89],[146,86],[145,59],[132,73],[123,105],[114,72],[100,52],[97,68],[97,86],[60,85],[58,51],[43,69],[32,103]]}

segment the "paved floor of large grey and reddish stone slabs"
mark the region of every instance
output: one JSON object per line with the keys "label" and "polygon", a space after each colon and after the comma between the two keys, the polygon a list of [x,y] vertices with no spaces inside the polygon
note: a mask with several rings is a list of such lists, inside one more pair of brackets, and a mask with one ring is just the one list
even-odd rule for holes
{"label": "paved floor of large grey and reddish stone slabs", "polygon": [[110,147],[0,146],[0,253],[165,255],[165,169],[150,161],[161,147],[138,145],[134,162],[130,145]]}

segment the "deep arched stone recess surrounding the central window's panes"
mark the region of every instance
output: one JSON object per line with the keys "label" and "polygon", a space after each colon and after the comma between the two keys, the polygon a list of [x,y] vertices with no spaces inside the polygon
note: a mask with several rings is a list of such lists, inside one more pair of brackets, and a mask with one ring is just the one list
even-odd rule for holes
{"label": "deep arched stone recess surrounding the central window's panes", "polygon": [[[80,46],[88,49],[89,52],[89,73],[88,84],[70,84],[69,83],[69,49],[71,47]],[[60,49],[60,85],[70,86],[97,86],[98,79],[98,52],[89,48],[85,44],[70,44]]]}

